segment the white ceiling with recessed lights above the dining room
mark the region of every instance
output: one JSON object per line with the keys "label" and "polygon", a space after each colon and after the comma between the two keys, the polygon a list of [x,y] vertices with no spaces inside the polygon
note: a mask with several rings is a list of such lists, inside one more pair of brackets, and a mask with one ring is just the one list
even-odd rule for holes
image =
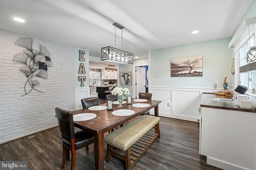
{"label": "white ceiling with recessed lights above the dining room", "polygon": [[[148,50],[231,37],[252,0],[2,0],[0,29],[73,45],[101,57],[123,25],[123,51]],[[13,17],[23,18],[18,23]],[[199,30],[197,34],[191,31]],[[116,29],[121,49],[121,30]]]}

